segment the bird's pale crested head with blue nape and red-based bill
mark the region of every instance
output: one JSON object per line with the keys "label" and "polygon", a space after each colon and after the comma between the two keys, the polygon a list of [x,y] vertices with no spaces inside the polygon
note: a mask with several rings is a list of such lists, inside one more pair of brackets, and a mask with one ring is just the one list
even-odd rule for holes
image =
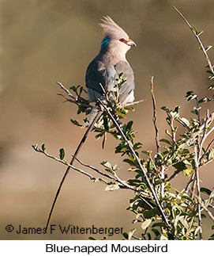
{"label": "bird's pale crested head with blue nape and red-based bill", "polygon": [[111,17],[103,17],[103,23],[99,24],[103,28],[104,38],[101,44],[101,50],[107,49],[114,55],[118,55],[121,58],[126,58],[126,52],[128,52],[131,46],[137,46],[130,39],[130,36],[111,19]]}

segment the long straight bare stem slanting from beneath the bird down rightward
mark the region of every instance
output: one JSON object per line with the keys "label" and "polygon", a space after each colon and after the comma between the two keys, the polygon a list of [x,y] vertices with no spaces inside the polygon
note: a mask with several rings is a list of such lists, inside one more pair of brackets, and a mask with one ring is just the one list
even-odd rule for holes
{"label": "long straight bare stem slanting from beneath the bird down rightward", "polygon": [[103,104],[103,102],[98,99],[99,103],[101,105],[103,105],[103,108],[106,110],[107,114],[109,115],[109,117],[111,118],[111,120],[113,121],[113,123],[115,124],[115,127],[118,128],[118,132],[121,134],[121,136],[123,137],[123,139],[126,140],[126,143],[128,144],[128,146],[130,147],[130,151],[132,152],[132,154],[134,155],[136,161],[137,161],[137,164],[138,166],[140,167],[140,169],[142,170],[142,174],[145,178],[145,181],[147,182],[148,184],[148,187],[149,189],[151,190],[152,192],[152,195],[156,201],[156,204],[157,204],[157,207],[159,208],[160,210],[160,214],[161,216],[163,217],[163,221],[165,222],[165,224],[167,225],[168,228],[170,228],[170,224],[168,223],[168,220],[167,220],[167,217],[165,216],[165,213],[163,212],[163,208],[162,206],[160,205],[160,201],[156,195],[156,191],[155,189],[153,188],[153,185],[152,183],[150,182],[147,174],[146,174],[146,170],[145,168],[141,165],[141,160],[138,158],[136,152],[134,151],[133,149],[133,144],[131,143],[131,141],[129,139],[126,138],[125,134],[122,132],[122,128],[119,126],[118,122],[115,120],[115,117],[112,116],[111,112],[107,109],[106,105]]}

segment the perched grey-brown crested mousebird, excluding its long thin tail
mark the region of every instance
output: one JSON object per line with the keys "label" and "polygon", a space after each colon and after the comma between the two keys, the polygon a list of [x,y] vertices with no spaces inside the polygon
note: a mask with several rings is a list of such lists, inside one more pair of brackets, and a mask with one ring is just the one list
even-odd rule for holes
{"label": "perched grey-brown crested mousebird, excluding its long thin tail", "polygon": [[[119,90],[119,102],[126,105],[134,101],[135,89],[133,70],[126,59],[126,52],[137,44],[111,17],[104,16],[102,21],[99,24],[104,34],[101,48],[98,55],[89,63],[85,75],[88,101],[97,102],[98,99],[105,101],[103,89],[111,92],[114,97],[117,90],[115,88],[116,79],[119,74],[123,73],[126,82]],[[95,105],[88,117],[88,122],[83,127],[88,127],[95,119],[98,120],[101,114],[102,111]]]}

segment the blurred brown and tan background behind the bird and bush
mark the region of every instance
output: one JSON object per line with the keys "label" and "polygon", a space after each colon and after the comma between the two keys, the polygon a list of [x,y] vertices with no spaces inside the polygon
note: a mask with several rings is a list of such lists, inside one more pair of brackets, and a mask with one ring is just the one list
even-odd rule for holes
{"label": "blurred brown and tan background behind the bird and bush", "polygon": [[[208,96],[205,57],[190,29],[172,8],[177,6],[198,30],[205,46],[214,44],[213,0],[0,0],[0,238],[1,239],[88,239],[88,235],[17,235],[7,233],[7,224],[44,227],[65,166],[32,150],[32,144],[46,143],[52,155],[66,148],[66,158],[77,147],[84,130],[70,123],[77,117],[74,105],[63,103],[56,85],[84,85],[88,63],[99,52],[103,38],[98,23],[111,16],[137,43],[127,54],[133,67],[137,100],[145,99],[128,115],[134,120],[137,139],[144,149],[155,150],[149,76],[154,75],[160,137],[164,136],[167,105],[182,105],[182,115],[193,117],[193,102],[185,94],[193,90]],[[213,63],[214,52],[208,52]],[[206,105],[213,110],[213,103]],[[122,179],[133,177],[111,137],[101,149],[94,134],[84,145],[80,159],[100,168],[108,160],[120,166]],[[201,170],[202,185],[213,189],[213,163]],[[174,185],[182,189],[188,179],[182,175]],[[79,227],[123,227],[130,231],[133,214],[126,211],[129,191],[106,193],[105,186],[70,171],[58,198],[51,224]],[[205,220],[205,239],[211,223]],[[139,235],[139,234],[136,234]],[[102,235],[94,235],[101,239]],[[108,239],[122,239],[115,235]]]}

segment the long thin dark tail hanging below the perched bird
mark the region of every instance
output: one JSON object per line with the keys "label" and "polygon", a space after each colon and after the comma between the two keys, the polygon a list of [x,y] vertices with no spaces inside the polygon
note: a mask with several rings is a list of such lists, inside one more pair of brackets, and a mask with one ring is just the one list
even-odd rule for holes
{"label": "long thin dark tail hanging below the perched bird", "polygon": [[[73,162],[74,162],[75,159],[77,158],[78,153],[81,151],[81,147],[82,147],[82,145],[84,144],[85,139],[88,137],[89,132],[92,131],[92,128],[93,128],[94,124],[96,124],[96,121],[99,119],[99,117],[100,117],[100,116],[102,115],[102,113],[103,113],[103,110],[101,110],[100,108],[99,108],[99,109],[96,109],[96,110],[97,110],[97,111],[94,113],[93,119],[92,119],[92,117],[91,117],[90,122],[89,122],[89,124],[88,124],[88,128],[87,128],[86,132],[84,133],[84,136],[82,137],[81,142],[79,143],[79,145],[78,145],[76,151],[74,152],[73,158],[71,159],[71,161],[70,161],[70,163],[69,163],[69,165],[71,165],[71,166],[73,165]],[[91,115],[90,115],[90,116],[91,116]],[[57,201],[57,199],[58,199],[58,195],[59,195],[59,193],[60,193],[60,191],[61,191],[61,189],[62,189],[62,185],[63,185],[63,183],[64,183],[64,181],[65,181],[65,179],[66,179],[67,174],[69,174],[69,169],[70,169],[70,167],[68,166],[67,169],[66,169],[65,174],[64,174],[63,177],[62,177],[62,180],[60,181],[60,184],[59,184],[59,186],[58,186],[57,192],[56,192],[56,194],[55,194],[54,201],[53,201],[53,204],[52,204],[52,206],[51,206],[51,211],[49,212],[49,216],[48,216],[48,218],[47,218],[47,224],[46,224],[46,227],[45,227],[45,228],[46,228],[46,231],[47,231],[48,225],[49,225],[49,223],[50,223],[51,216],[52,216],[52,213],[53,213],[53,211],[54,211],[54,206],[55,206],[56,201]]]}

